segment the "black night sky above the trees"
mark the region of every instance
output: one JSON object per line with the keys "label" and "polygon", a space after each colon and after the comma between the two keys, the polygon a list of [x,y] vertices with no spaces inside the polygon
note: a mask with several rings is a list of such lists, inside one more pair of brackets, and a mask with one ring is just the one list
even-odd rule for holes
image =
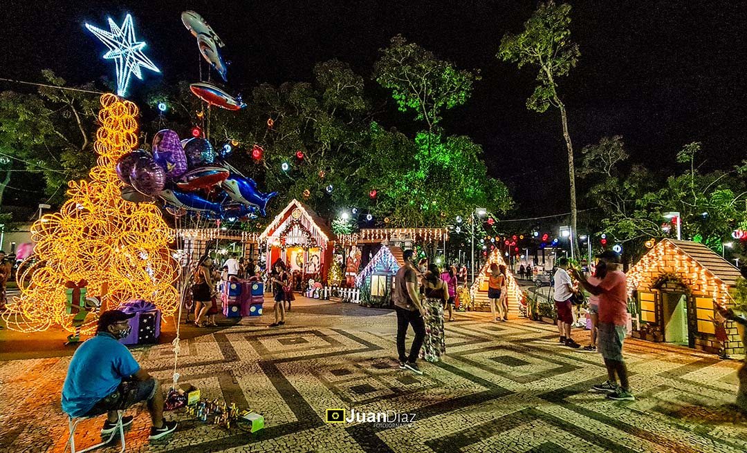
{"label": "black night sky above the trees", "polygon": [[[692,141],[703,142],[704,170],[746,157],[745,2],[568,3],[581,57],[560,80],[560,93],[577,151],[620,134],[631,161],[663,172],[675,169],[675,154]],[[527,111],[536,71],[495,58],[503,34],[520,32],[535,7],[509,0],[5,0],[0,77],[40,81],[46,68],[74,84],[111,77],[114,66],[100,59],[104,46],[83,23],[108,28],[107,16],[121,23],[128,12],[163,72],[134,81],[136,101],[161,79],[197,81],[199,55],[179,19],[183,10],[196,10],[223,39],[223,57],[232,61],[229,87],[247,94],[262,82],[309,81],[314,63],[332,58],[370,78],[378,49],[403,34],[460,68],[481,70],[472,98],[447,113],[444,126],[483,145],[490,173],[518,201],[515,216],[547,215],[568,211],[560,114]],[[17,87],[0,82],[6,89]],[[409,122],[392,112],[385,122]]]}

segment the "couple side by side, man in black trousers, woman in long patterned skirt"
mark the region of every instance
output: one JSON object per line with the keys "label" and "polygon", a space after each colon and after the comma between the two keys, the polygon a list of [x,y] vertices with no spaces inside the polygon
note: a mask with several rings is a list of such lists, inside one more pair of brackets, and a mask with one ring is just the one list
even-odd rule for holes
{"label": "couple side by side, man in black trousers, woman in long patterned skirt", "polygon": [[[405,265],[394,278],[394,310],[397,310],[397,354],[400,369],[410,369],[418,375],[423,372],[415,360],[421,357],[438,362],[446,352],[444,340],[444,302],[449,299],[447,284],[439,278],[438,266],[431,264],[424,278],[424,294],[418,291],[418,274],[412,262],[412,250],[402,254]],[[412,325],[415,339],[409,355],[405,352],[407,328]]]}

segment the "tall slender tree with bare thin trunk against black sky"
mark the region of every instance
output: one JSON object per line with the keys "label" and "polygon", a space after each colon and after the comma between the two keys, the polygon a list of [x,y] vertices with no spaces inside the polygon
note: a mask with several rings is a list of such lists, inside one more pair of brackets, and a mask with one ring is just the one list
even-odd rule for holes
{"label": "tall slender tree with bare thin trunk against black sky", "polygon": [[568,75],[572,67],[576,66],[580,51],[578,45],[572,43],[571,5],[556,5],[550,0],[539,4],[537,10],[524,23],[521,34],[507,33],[500,41],[497,57],[503,61],[518,63],[518,67],[526,64],[539,68],[537,86],[532,96],[527,99],[527,108],[539,113],[545,112],[552,105],[560,110],[562,135],[565,147],[568,149],[568,178],[571,183],[571,228],[577,236],[578,207],[576,202],[576,175],[573,163],[573,143],[568,132],[568,113],[565,104],[557,92],[557,78]]}

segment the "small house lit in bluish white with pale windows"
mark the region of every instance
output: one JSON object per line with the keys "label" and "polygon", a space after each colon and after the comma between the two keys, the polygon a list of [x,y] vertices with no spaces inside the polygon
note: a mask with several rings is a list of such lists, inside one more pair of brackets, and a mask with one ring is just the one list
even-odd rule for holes
{"label": "small house lit in bluish white with pale windows", "polygon": [[394,276],[397,271],[405,265],[402,256],[403,250],[399,247],[388,247],[382,245],[356,276],[356,288],[364,288],[361,297],[368,298],[364,302],[376,302],[388,304],[391,302],[391,294],[394,290]]}

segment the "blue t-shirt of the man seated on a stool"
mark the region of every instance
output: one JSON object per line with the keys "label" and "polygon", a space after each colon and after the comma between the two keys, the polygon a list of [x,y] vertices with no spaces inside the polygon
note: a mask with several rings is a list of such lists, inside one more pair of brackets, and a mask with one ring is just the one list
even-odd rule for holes
{"label": "blue t-shirt of the man seated on a stool", "polygon": [[82,416],[122,382],[140,371],[131,352],[109,334],[86,340],[70,360],[62,387],[62,410]]}

